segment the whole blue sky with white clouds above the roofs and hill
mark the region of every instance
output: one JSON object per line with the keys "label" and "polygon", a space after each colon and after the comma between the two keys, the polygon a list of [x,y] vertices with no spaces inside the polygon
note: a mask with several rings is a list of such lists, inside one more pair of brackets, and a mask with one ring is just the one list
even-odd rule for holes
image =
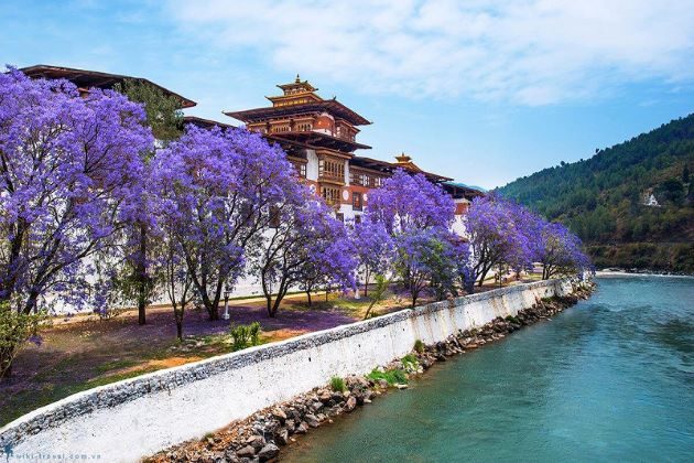
{"label": "whole blue sky with white clouds above the roofs and hill", "polygon": [[694,0],[0,0],[0,57],[237,125],[300,74],[373,122],[357,154],[491,189],[694,112]]}

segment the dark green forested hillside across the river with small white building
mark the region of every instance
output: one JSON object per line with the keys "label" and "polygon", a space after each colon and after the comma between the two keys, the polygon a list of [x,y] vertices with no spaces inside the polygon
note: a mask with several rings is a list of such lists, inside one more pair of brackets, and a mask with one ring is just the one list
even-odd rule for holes
{"label": "dark green forested hillside across the river with small white building", "polygon": [[694,271],[694,114],[498,191],[586,243],[598,267]]}

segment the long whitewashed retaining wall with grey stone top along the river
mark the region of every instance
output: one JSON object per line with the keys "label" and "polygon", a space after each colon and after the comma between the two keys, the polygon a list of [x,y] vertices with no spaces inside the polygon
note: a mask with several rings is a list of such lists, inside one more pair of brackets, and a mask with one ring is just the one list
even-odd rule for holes
{"label": "long whitewashed retaining wall with grey stone top along the river", "polygon": [[[538,299],[573,292],[568,280],[502,288],[182,365],[69,396],[0,429],[17,456],[100,455],[137,461],[204,435],[332,376],[366,374],[416,340],[514,315]],[[25,460],[30,460],[26,459]]]}

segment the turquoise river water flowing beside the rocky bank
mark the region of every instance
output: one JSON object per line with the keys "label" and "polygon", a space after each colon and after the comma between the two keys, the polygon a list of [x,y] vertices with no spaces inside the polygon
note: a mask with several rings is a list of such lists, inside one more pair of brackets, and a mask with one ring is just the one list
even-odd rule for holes
{"label": "turquoise river water flowing beside the rocky bank", "polygon": [[588,300],[440,364],[286,461],[694,461],[694,279],[598,279]]}

